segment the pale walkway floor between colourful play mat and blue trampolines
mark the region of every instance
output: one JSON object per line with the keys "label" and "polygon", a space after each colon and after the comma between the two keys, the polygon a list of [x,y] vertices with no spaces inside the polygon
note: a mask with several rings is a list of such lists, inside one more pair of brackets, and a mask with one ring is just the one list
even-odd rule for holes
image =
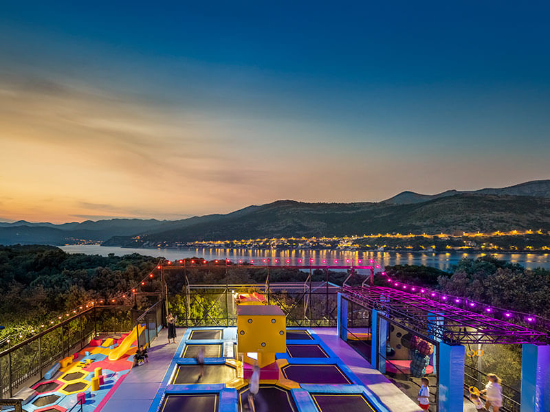
{"label": "pale walkway floor between colourful play mat and blue trampolines", "polygon": [[168,343],[168,330],[161,330],[147,350],[149,362],[131,369],[101,412],[147,412],[185,331],[186,328],[177,328],[174,345]]}

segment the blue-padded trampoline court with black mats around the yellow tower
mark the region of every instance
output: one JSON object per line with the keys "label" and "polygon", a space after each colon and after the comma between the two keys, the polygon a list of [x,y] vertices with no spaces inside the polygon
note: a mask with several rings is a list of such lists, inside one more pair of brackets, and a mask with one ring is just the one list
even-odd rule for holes
{"label": "blue-padded trampoline court with black mats around the yellow tower", "polygon": [[[249,411],[246,366],[235,350],[237,331],[186,330],[149,412]],[[276,379],[261,375],[256,412],[331,412],[342,411],[342,405],[349,412],[388,412],[314,330],[288,329],[284,337],[286,352],[274,354]]]}

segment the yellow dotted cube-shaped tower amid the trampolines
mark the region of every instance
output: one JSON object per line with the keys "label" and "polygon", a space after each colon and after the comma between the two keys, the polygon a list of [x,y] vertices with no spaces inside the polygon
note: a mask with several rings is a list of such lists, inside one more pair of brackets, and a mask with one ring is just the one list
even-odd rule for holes
{"label": "yellow dotted cube-shaped tower amid the trampolines", "polygon": [[258,365],[275,362],[276,352],[287,350],[287,318],[276,305],[237,305],[237,350],[245,361],[256,361],[247,354],[258,354]]}

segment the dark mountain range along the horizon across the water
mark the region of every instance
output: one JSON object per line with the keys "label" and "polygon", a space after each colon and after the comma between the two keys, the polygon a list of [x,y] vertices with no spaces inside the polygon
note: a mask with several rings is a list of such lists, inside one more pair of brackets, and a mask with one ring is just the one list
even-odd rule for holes
{"label": "dark mountain range along the horizon across the water", "polygon": [[[402,192],[379,203],[276,201],[184,220],[110,219],[63,225],[0,222],[0,244],[94,240],[139,247],[145,242],[510,229],[550,229],[550,180],[473,192]],[[133,239],[138,235],[138,240]]]}

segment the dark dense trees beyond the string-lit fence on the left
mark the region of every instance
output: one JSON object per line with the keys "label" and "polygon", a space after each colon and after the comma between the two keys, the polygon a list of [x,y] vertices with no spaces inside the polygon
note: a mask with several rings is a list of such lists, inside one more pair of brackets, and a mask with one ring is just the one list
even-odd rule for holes
{"label": "dark dense trees beyond the string-lit fence on the left", "polygon": [[37,323],[64,310],[115,297],[139,282],[156,262],[137,253],[104,257],[43,245],[0,246],[0,325],[5,326],[0,339],[28,335]]}

